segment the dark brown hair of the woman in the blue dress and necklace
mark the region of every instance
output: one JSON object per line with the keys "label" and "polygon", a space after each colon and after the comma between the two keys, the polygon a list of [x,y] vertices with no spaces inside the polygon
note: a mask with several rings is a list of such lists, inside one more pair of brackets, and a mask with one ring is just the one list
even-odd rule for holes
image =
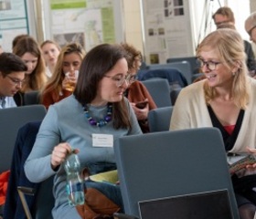
{"label": "dark brown hair of the woman in the blue dress and necklace", "polygon": [[[120,45],[101,44],[87,53],[80,65],[80,75],[74,91],[74,96],[82,106],[96,98],[99,82],[122,58],[125,58],[125,50]],[[112,104],[114,129],[131,129],[124,99]]]}

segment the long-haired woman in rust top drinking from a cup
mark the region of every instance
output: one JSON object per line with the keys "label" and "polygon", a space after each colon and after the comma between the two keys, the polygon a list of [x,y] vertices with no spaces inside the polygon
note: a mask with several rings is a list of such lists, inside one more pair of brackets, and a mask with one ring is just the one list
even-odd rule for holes
{"label": "long-haired woman in rust top drinking from a cup", "polygon": [[[72,80],[75,86],[77,78],[74,77],[74,74],[75,71],[79,71],[84,56],[85,51],[78,43],[70,43],[61,49],[53,75],[48,79],[48,83],[40,93],[41,103],[47,109],[49,105],[72,94],[73,91],[68,89],[68,85]],[[67,77],[66,74],[68,72],[72,76]]]}

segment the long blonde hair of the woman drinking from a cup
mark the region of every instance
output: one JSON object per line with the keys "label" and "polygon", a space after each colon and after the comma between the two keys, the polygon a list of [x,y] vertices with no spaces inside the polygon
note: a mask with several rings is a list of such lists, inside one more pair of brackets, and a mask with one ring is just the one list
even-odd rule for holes
{"label": "long blonde hair of the woman drinking from a cup", "polygon": [[68,45],[63,47],[60,50],[54,72],[51,78],[48,79],[48,83],[46,84],[45,88],[41,91],[41,98],[43,98],[43,95],[45,93],[51,92],[53,90],[55,91],[56,95],[59,96],[59,92],[62,89],[62,81],[65,78],[65,74],[63,72],[63,59],[66,55],[71,53],[78,54],[81,60],[85,56],[85,51],[79,43],[69,43]]}

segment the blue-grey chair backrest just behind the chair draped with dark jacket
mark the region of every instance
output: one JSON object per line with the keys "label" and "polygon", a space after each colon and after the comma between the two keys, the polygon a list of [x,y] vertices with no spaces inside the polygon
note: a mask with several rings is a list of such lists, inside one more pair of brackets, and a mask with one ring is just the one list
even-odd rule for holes
{"label": "blue-grey chair backrest just behind the chair draped with dark jacket", "polygon": [[147,67],[148,69],[159,68],[176,68],[187,79],[187,84],[191,84],[192,71],[190,64],[187,61],[171,62],[166,64],[154,64]]}

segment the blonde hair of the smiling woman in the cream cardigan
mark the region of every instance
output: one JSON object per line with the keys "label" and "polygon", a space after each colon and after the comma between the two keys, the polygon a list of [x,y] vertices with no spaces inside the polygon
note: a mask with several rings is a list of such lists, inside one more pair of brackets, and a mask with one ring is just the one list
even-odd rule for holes
{"label": "blonde hair of the smiling woman in the cream cardigan", "polygon": [[[249,86],[248,86],[248,68],[246,66],[246,55],[244,53],[243,40],[236,30],[221,28],[210,33],[197,47],[197,57],[200,57],[202,51],[214,49],[219,61],[227,68],[238,68],[234,73],[231,95],[235,105],[245,110],[249,102]],[[230,74],[232,74],[230,72]],[[209,103],[211,99],[217,96],[216,89],[208,86],[205,82],[205,97]]]}

